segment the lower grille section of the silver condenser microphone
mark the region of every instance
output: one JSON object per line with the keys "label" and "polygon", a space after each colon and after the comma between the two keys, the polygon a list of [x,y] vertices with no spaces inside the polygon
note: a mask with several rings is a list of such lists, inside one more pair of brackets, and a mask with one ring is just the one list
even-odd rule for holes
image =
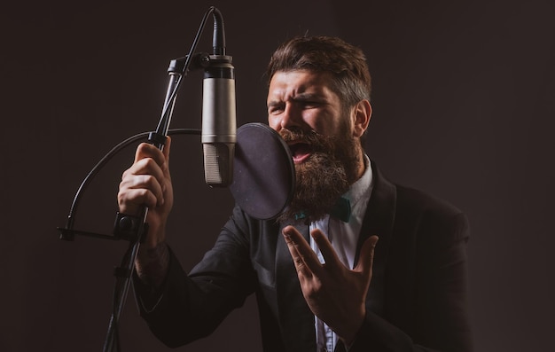
{"label": "lower grille section of the silver condenser microphone", "polygon": [[204,178],[212,187],[227,187],[233,178],[234,144],[203,144]]}

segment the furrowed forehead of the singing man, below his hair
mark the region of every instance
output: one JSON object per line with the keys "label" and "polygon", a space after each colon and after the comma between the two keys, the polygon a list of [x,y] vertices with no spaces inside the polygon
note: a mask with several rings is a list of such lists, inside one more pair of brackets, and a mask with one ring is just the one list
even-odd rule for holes
{"label": "furrowed forehead of the singing man, below his hair", "polygon": [[331,82],[328,74],[309,70],[277,71],[270,80],[268,97],[290,98],[301,94],[327,96],[333,94]]}

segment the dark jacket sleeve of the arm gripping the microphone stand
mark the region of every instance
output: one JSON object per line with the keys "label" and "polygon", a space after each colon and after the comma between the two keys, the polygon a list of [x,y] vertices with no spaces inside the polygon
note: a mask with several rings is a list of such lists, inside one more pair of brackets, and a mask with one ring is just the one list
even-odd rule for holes
{"label": "dark jacket sleeve of the arm gripping the microphone stand", "polygon": [[[241,212],[236,209],[234,214]],[[242,225],[231,216],[215,246],[189,274],[170,250],[168,275],[154,295],[134,277],[140,315],[168,347],[176,348],[207,336],[254,292],[254,271],[248,241],[240,230]]]}

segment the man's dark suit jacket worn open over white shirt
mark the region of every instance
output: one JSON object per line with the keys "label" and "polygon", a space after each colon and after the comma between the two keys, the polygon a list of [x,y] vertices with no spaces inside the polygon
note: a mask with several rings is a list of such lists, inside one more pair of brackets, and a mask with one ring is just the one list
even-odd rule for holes
{"label": "man's dark suit jacket worn open over white shirt", "polygon": [[[471,351],[465,215],[372,169],[375,184],[358,247],[373,234],[379,242],[367,315],[349,351]],[[283,226],[235,207],[215,246],[188,276],[172,254],[154,309],[146,308],[145,287],[135,279],[141,316],[152,332],[168,346],[181,346],[213,332],[255,293],[264,351],[316,351],[314,316]],[[298,229],[308,239],[308,226]]]}

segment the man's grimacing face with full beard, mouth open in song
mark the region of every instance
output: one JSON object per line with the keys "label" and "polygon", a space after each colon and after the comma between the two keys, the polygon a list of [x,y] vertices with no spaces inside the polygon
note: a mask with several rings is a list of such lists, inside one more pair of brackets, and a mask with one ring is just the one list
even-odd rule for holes
{"label": "man's grimacing face with full beard, mouth open in song", "polygon": [[277,72],[270,81],[268,121],[293,155],[296,187],[280,218],[302,211],[308,220],[329,212],[363,173],[356,114],[344,111],[326,74]]}

